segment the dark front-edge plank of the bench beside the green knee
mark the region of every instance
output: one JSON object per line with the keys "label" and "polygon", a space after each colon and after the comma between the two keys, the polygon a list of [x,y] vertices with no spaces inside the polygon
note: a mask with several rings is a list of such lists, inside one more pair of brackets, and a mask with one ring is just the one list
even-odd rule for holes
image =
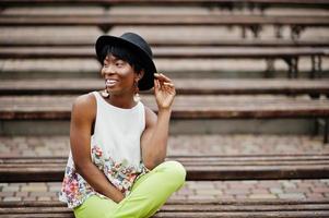
{"label": "dark front-edge plank of the bench beside the green knee", "polygon": [[[9,166],[10,167],[10,166]],[[299,166],[185,166],[188,181],[328,179],[329,165]],[[60,182],[64,165],[0,168],[0,182]]]}

